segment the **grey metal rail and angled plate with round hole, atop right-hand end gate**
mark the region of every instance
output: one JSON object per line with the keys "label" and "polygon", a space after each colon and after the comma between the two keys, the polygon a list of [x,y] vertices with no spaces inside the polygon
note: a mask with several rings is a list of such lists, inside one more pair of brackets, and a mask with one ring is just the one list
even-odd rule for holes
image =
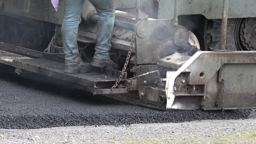
{"label": "grey metal rail and angled plate with round hole, atop right-hand end gate", "polygon": [[[190,60],[188,60],[190,61]],[[187,61],[187,62],[188,62]],[[223,64],[255,64],[256,52],[202,52],[184,71],[191,72],[188,77],[190,85],[204,85],[220,70]]]}

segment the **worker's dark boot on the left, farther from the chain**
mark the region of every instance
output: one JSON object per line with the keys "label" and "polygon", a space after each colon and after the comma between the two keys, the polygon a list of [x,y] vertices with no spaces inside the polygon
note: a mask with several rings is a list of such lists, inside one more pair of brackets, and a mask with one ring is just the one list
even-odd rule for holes
{"label": "worker's dark boot on the left, farther from the chain", "polygon": [[80,62],[80,64],[73,65],[73,66],[65,66],[64,72],[69,74],[76,74],[76,73],[87,73],[92,71],[92,66],[90,63]]}

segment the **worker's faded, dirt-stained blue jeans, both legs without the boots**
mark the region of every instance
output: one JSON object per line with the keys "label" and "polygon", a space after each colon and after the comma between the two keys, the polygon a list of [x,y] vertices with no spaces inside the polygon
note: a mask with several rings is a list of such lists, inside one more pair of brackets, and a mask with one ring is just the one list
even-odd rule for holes
{"label": "worker's faded, dirt-stained blue jeans, both legs without the boots", "polygon": [[[115,22],[115,8],[112,0],[89,0],[99,14],[94,58],[108,60],[110,40]],[[62,40],[66,66],[78,64],[80,55],[77,46],[78,26],[81,22],[84,0],[65,0],[65,16],[62,22]]]}

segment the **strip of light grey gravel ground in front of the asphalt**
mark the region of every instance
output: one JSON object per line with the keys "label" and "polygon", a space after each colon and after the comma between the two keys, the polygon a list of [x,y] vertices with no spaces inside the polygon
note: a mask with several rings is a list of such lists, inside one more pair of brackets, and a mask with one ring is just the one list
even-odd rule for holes
{"label": "strip of light grey gravel ground in front of the asphalt", "polygon": [[0,129],[4,144],[255,144],[256,119]]}

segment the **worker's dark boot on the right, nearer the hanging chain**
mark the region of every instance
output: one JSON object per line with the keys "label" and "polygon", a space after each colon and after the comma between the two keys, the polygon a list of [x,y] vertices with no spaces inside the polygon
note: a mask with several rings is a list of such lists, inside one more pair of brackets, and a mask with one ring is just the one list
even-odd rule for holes
{"label": "worker's dark boot on the right, nearer the hanging chain", "polygon": [[112,60],[98,60],[98,59],[93,59],[92,60],[92,63],[91,63],[91,66],[95,66],[95,67],[98,67],[98,68],[111,68],[111,69],[117,69],[118,66],[116,63],[114,63]]}

